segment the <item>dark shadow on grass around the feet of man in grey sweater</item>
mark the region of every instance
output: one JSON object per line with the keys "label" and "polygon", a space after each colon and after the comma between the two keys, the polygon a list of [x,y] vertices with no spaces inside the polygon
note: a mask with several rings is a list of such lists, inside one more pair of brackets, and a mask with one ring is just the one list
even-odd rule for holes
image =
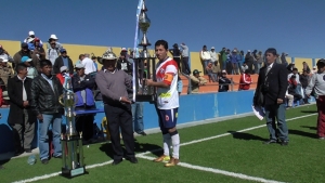
{"label": "dark shadow on grass around the feet of man in grey sweater", "polygon": [[[123,149],[123,154],[126,155],[126,149],[125,149],[125,145],[121,144],[122,149]],[[109,143],[104,143],[102,144],[102,146],[100,147],[100,151],[105,152],[105,154],[110,157],[112,159],[114,159],[114,153],[113,153],[113,147],[112,144]],[[156,156],[161,156],[161,147],[155,144],[147,144],[147,143],[139,143],[139,142],[134,142],[134,152],[135,153],[144,153],[144,152],[151,152],[152,154],[156,155]]]}

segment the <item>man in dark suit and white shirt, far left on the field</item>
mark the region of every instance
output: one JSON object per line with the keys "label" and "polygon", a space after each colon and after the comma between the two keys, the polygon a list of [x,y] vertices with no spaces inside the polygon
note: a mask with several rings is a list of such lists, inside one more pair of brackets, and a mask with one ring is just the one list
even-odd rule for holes
{"label": "man in dark suit and white shirt, far left on the field", "polygon": [[8,95],[10,97],[10,110],[8,122],[13,129],[15,142],[15,155],[31,153],[31,142],[36,116],[31,113],[30,86],[32,79],[27,78],[27,67],[24,64],[16,65],[17,75],[8,80]]}

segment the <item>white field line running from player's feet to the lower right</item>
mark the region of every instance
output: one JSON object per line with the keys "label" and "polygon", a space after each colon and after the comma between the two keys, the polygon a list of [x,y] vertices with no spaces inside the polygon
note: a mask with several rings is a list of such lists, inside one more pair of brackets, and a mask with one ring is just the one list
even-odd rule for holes
{"label": "white field line running from player's feet to the lower right", "polygon": [[[143,159],[147,159],[147,160],[154,160],[155,159],[153,157],[145,156],[145,155],[139,155],[138,157],[143,158]],[[243,179],[243,180],[256,181],[256,182],[284,183],[284,182],[266,180],[266,179],[258,178],[258,177],[250,177],[250,175],[246,175],[246,174],[242,174],[242,173],[235,173],[235,172],[214,169],[214,168],[209,168],[209,167],[194,166],[194,165],[186,164],[186,162],[179,162],[178,166],[194,169],[194,170],[202,170],[202,171],[212,172],[212,173],[217,173],[217,174],[223,174],[223,175],[226,175],[226,177],[233,177],[233,178]]]}

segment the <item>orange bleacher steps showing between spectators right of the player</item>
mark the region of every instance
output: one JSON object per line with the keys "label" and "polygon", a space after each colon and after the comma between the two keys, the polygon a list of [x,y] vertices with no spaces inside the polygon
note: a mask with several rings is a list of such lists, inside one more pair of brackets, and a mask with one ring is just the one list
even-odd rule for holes
{"label": "orange bleacher steps showing between spectators right of the player", "polygon": [[[259,75],[250,75],[252,83],[250,84],[250,90],[255,90],[257,86],[257,80],[258,80]],[[200,86],[199,87],[199,92],[200,93],[213,93],[218,92],[219,89],[219,83],[218,82],[209,82],[209,77],[207,75],[203,76],[208,80],[206,86]],[[234,84],[233,87],[230,86],[230,90],[233,88],[233,91],[238,90],[238,83],[240,79],[240,75],[227,75],[226,76],[229,79],[232,79]],[[188,88],[188,79],[185,76],[181,76],[181,79],[183,81],[183,91],[182,94],[187,94],[187,88]]]}

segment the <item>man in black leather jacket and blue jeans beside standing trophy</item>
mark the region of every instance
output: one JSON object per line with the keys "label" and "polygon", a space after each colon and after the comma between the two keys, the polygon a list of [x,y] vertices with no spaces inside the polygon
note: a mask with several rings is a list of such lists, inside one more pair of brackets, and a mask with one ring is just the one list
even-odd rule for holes
{"label": "man in black leather jacket and blue jeans beside standing trophy", "polygon": [[63,93],[60,80],[52,76],[52,63],[43,60],[40,63],[41,75],[31,82],[31,108],[39,122],[39,151],[42,164],[49,162],[48,130],[52,123],[54,157],[62,157],[60,142],[63,107],[58,97]]}

